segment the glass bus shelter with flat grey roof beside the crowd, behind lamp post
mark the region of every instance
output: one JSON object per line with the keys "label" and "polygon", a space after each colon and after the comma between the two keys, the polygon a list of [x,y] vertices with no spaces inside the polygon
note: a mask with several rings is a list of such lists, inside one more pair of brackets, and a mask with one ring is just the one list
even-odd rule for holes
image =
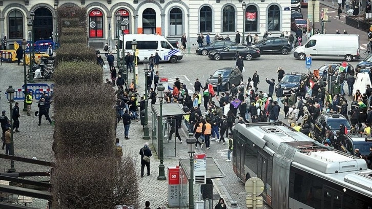
{"label": "glass bus shelter with flat grey roof beside the crowd, behind lamp post", "polygon": [[[156,154],[159,155],[159,139],[162,138],[163,142],[163,156],[164,157],[176,157],[176,134],[173,134],[172,140],[170,140],[169,132],[172,126],[176,127],[176,118],[181,118],[186,113],[182,110],[182,106],[178,103],[164,103],[162,105],[162,118],[160,118],[160,104],[154,104],[151,106],[152,110],[152,143]],[[174,124],[171,124],[174,123]],[[177,127],[175,129],[178,129]],[[181,130],[179,130],[181,131]],[[181,134],[181,133],[180,133]]]}

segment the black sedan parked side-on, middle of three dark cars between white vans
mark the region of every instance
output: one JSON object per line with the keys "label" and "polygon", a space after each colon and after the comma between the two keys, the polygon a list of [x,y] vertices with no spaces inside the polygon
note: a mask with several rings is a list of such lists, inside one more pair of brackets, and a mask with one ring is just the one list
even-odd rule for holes
{"label": "black sedan parked side-on, middle of three dark cars between white vans", "polygon": [[244,45],[235,45],[230,47],[225,47],[223,49],[212,50],[208,57],[214,60],[220,59],[233,59],[236,56],[236,53],[239,52],[239,55],[246,60],[251,60],[261,56],[259,50],[256,50],[249,46]]}

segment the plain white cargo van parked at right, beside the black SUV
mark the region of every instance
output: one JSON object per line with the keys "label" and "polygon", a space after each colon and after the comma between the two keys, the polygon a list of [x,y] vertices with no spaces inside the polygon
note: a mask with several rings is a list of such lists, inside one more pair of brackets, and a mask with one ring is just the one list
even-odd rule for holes
{"label": "plain white cargo van parked at right, beside the black SUV", "polygon": [[359,35],[316,34],[311,36],[302,46],[296,47],[293,56],[305,60],[312,58],[342,58],[346,61],[360,59]]}

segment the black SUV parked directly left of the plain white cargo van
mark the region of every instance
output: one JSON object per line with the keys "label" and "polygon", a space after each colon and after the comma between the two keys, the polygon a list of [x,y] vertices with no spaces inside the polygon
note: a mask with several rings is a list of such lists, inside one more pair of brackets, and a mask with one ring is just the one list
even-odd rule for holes
{"label": "black SUV parked directly left of the plain white cargo van", "polygon": [[264,38],[256,45],[252,45],[253,48],[259,49],[261,54],[264,53],[281,53],[288,54],[292,50],[290,41],[286,38],[270,37]]}

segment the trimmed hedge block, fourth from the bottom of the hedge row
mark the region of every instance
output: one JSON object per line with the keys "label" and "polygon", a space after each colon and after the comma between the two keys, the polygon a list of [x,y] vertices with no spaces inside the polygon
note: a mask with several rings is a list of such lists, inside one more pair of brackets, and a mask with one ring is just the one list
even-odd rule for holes
{"label": "trimmed hedge block, fourth from the bottom of the hedge row", "polygon": [[57,66],[54,72],[54,82],[56,87],[84,84],[100,85],[103,82],[103,72],[102,68],[95,62],[64,61]]}

